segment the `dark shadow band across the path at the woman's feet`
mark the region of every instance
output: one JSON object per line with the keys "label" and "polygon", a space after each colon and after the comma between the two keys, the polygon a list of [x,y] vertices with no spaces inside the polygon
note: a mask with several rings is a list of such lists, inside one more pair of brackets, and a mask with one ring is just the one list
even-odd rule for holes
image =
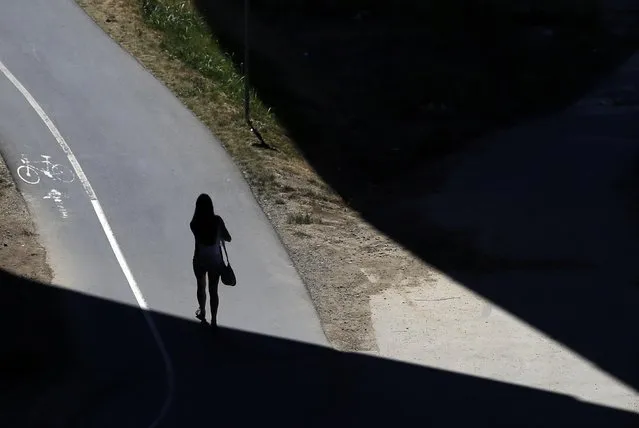
{"label": "dark shadow band across the path at the woman's feet", "polygon": [[[0,271],[0,425],[145,427],[167,391],[137,308]],[[636,426],[571,397],[154,313],[161,426]]]}

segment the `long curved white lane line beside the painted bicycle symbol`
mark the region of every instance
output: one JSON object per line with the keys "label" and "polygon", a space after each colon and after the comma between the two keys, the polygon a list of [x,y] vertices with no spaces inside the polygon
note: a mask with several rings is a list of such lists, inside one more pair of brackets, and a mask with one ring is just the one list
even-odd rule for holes
{"label": "long curved white lane line beside the painted bicycle symbol", "polygon": [[168,412],[169,407],[171,406],[171,403],[173,401],[173,394],[174,394],[173,364],[171,362],[171,358],[169,357],[169,353],[166,350],[166,346],[164,345],[164,341],[162,340],[162,337],[160,336],[160,332],[158,331],[157,326],[155,325],[155,322],[153,321],[153,318],[151,317],[151,314],[148,312],[149,307],[146,303],[146,300],[144,299],[142,291],[138,287],[138,284],[135,281],[133,274],[131,273],[131,269],[129,269],[129,265],[126,262],[126,259],[124,258],[124,254],[122,254],[122,250],[120,250],[120,245],[118,244],[118,241],[115,239],[115,235],[113,234],[113,230],[111,230],[111,226],[109,225],[109,222],[106,218],[106,215],[104,214],[104,211],[102,210],[100,201],[98,200],[98,197],[93,191],[93,187],[91,186],[89,179],[84,174],[84,171],[82,170],[82,167],[80,166],[80,163],[78,162],[77,158],[71,151],[71,148],[69,147],[67,142],[64,140],[64,137],[62,137],[62,134],[60,134],[60,131],[58,131],[58,128],[55,126],[53,121],[45,113],[42,107],[40,107],[40,104],[38,104],[35,98],[33,98],[33,96],[29,93],[29,91],[9,71],[9,69],[2,63],[2,61],[0,61],[0,71],[2,71],[2,73],[7,77],[7,79],[9,79],[11,83],[13,83],[13,86],[15,86],[18,91],[20,91],[22,96],[27,100],[27,102],[31,105],[31,107],[33,107],[36,113],[38,113],[38,116],[40,116],[40,119],[42,119],[42,121],[47,126],[47,128],[49,128],[49,131],[51,131],[51,134],[58,142],[62,151],[67,155],[67,158],[69,159],[69,162],[71,163],[71,166],[73,166],[73,169],[76,175],[78,176],[78,179],[80,179],[80,182],[82,183],[82,186],[84,187],[85,192],[87,193],[87,195],[89,196],[89,199],[91,200],[91,205],[93,206],[95,215],[98,217],[98,220],[100,221],[100,225],[102,225],[102,230],[104,231],[104,234],[106,235],[107,240],[109,241],[109,244],[111,245],[111,249],[113,250],[115,257],[118,260],[118,263],[120,264],[120,269],[122,269],[122,272],[124,273],[124,276],[126,277],[126,280],[129,283],[129,287],[131,288],[131,291],[133,292],[133,295],[135,296],[135,300],[138,302],[138,305],[142,309],[142,313],[144,314],[144,318],[146,319],[149,329],[151,330],[151,334],[153,335],[153,338],[155,339],[155,342],[157,343],[158,348],[160,349],[160,353],[162,354],[162,359],[164,360],[164,367],[166,370],[167,393],[164,400],[164,404],[162,405],[162,409],[160,410],[160,413],[155,418],[153,423],[149,425],[149,428],[155,428],[159,425],[159,423],[162,421],[164,416],[166,416],[166,413]]}

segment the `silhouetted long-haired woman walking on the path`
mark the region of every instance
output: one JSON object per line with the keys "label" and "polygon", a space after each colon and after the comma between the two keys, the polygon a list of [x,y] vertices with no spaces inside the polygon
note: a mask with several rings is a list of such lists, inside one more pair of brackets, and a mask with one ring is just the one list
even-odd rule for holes
{"label": "silhouetted long-haired woman walking on the path", "polygon": [[215,214],[213,201],[206,193],[198,196],[195,202],[195,213],[191,220],[191,232],[195,237],[193,253],[193,272],[197,279],[198,309],[195,316],[206,323],[206,276],[209,279],[211,298],[211,327],[217,327],[217,308],[220,299],[217,286],[220,280],[220,268],[224,263],[220,245],[222,240],[231,242],[231,235],[226,229],[222,217]]}

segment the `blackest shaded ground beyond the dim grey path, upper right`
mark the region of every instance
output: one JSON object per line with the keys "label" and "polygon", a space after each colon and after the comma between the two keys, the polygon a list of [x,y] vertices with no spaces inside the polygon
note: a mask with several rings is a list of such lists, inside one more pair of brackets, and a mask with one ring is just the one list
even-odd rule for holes
{"label": "blackest shaded ground beyond the dim grey path, upper right", "polygon": [[[241,69],[243,2],[195,4]],[[583,94],[636,47],[612,31],[608,7],[251,0],[249,77],[313,166],[356,199]]]}

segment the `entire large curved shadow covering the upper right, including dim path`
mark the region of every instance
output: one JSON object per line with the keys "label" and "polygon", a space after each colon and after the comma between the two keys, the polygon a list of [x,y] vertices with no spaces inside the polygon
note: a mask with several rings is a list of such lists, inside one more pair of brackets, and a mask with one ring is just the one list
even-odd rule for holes
{"label": "entire large curved shadow covering the upper right, including dim path", "polygon": [[[239,67],[242,2],[195,4]],[[637,389],[639,64],[564,109],[639,48],[639,7],[591,4],[253,0],[249,76],[368,222]]]}

